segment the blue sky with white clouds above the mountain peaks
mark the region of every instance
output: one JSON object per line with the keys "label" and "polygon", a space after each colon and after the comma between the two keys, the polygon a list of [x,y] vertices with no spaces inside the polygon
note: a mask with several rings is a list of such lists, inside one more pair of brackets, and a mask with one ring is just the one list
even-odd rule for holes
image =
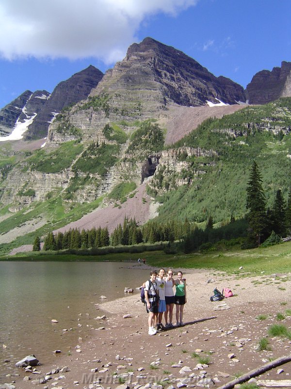
{"label": "blue sky with white clouds above the mountain peaks", "polygon": [[105,72],[146,36],[244,88],[291,61],[290,0],[1,0],[0,107],[90,64]]}

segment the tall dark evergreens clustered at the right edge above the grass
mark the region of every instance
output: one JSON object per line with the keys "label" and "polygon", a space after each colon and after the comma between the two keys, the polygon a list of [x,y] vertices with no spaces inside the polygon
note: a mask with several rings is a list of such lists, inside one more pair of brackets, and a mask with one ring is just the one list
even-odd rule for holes
{"label": "tall dark evergreens clustered at the right edge above the grass", "polygon": [[287,204],[281,190],[276,191],[273,207],[266,207],[266,197],[262,188],[262,177],[254,161],[247,183],[246,208],[249,210],[246,248],[258,247],[272,231],[280,237],[291,234],[291,189]]}

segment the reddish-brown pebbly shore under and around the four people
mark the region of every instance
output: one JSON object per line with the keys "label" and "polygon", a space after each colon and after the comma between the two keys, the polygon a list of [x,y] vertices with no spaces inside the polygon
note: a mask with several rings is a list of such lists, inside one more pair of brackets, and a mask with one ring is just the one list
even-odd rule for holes
{"label": "reddish-brown pebbly shore under and around the four people", "polygon": [[[218,388],[235,374],[257,368],[270,358],[291,354],[289,339],[268,336],[269,327],[275,323],[291,328],[291,317],[286,316],[286,310],[291,310],[291,273],[244,278],[218,271],[187,270],[185,276],[185,326],[149,336],[146,310],[136,290],[130,298],[102,303],[106,318],[82,317],[80,323],[90,328],[90,336],[80,338],[69,353],[56,355],[52,366],[38,366],[41,374],[19,369],[19,377],[7,377],[6,382],[15,380],[16,388],[33,388],[46,373],[66,366],[69,371],[50,374],[51,379],[41,387],[116,388],[125,383],[124,388],[137,389],[147,383],[164,382],[165,388],[170,384],[178,388],[199,387],[199,381],[206,380],[202,387]],[[235,296],[211,302],[215,287],[229,287]],[[278,321],[277,313],[285,318]],[[259,315],[265,315],[265,319],[259,320]],[[259,352],[259,340],[266,336],[270,350]],[[208,358],[208,363],[198,365],[199,356]],[[291,379],[291,363],[281,369],[280,373],[276,368],[259,378]],[[26,376],[31,380],[23,381]]]}

